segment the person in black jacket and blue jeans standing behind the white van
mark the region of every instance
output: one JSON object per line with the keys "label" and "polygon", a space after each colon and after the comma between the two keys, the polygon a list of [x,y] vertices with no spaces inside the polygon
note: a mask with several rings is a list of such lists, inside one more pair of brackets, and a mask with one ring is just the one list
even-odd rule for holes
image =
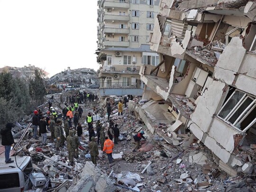
{"label": "person in black jacket and blue jeans standing behind the white van", "polygon": [[13,163],[14,161],[11,160],[10,157],[10,149],[11,146],[14,144],[14,139],[11,133],[11,128],[15,125],[13,123],[6,124],[5,129],[2,129],[0,131],[0,134],[2,135],[2,145],[5,148],[5,163]]}

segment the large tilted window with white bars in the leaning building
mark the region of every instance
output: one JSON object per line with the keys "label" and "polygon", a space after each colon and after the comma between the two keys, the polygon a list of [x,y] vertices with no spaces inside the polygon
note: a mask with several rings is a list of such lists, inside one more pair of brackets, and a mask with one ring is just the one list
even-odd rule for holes
{"label": "large tilted window with white bars in the leaning building", "polygon": [[234,89],[230,87],[218,116],[245,132],[256,123],[256,98]]}

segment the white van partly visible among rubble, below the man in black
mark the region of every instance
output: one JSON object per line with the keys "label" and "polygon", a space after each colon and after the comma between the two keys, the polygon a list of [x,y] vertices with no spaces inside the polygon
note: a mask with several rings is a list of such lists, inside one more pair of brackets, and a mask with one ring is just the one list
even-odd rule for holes
{"label": "white van partly visible among rubble, below the man in black", "polygon": [[29,175],[33,168],[31,157],[16,156],[18,167],[14,157],[13,163],[6,164],[5,158],[0,158],[0,192],[23,192],[31,189],[32,183],[26,175]]}

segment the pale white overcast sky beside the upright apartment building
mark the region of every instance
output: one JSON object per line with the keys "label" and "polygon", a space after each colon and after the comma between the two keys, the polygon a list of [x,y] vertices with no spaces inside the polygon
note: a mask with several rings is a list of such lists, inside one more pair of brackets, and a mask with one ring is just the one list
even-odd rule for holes
{"label": "pale white overcast sky beside the upright apartment building", "polygon": [[97,0],[0,0],[0,67],[98,69]]}

